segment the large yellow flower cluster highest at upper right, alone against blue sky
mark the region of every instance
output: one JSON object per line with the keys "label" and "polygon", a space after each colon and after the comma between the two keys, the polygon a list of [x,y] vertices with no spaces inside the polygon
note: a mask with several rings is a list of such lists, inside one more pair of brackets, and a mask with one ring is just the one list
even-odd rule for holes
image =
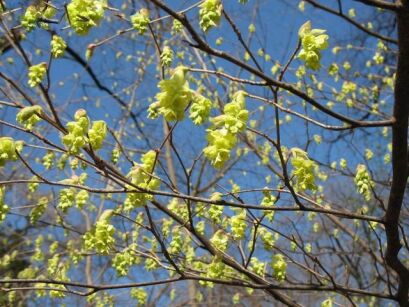
{"label": "large yellow flower cluster highest at upper right, alone against blue sky", "polygon": [[298,57],[305,66],[313,70],[321,67],[321,51],[328,48],[328,35],[325,30],[311,29],[311,22],[303,24],[298,32],[301,40],[301,51]]}

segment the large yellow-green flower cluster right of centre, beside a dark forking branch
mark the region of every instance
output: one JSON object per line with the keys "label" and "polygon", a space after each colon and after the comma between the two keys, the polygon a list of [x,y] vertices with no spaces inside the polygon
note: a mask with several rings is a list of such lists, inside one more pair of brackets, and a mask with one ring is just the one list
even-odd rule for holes
{"label": "large yellow-green flower cluster right of centre, beside a dark forking branch", "polygon": [[310,160],[307,153],[300,148],[292,148],[291,154],[295,188],[299,191],[316,191],[315,174],[318,172],[318,165]]}

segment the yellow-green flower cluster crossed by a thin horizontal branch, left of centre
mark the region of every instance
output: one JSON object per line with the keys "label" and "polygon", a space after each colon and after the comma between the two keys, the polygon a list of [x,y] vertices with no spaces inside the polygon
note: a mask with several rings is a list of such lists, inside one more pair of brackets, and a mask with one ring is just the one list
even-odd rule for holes
{"label": "yellow-green flower cluster crossed by a thin horizontal branch, left of centre", "polygon": [[[156,161],[156,152],[153,150],[148,151],[141,158],[141,164],[136,164],[128,174],[133,185],[142,188],[155,190],[159,187],[159,180],[152,177]],[[143,191],[138,191],[133,186],[128,186],[128,190],[132,191],[128,193],[125,200],[125,210],[129,211],[132,208],[137,208],[146,205],[148,200],[152,200],[153,196]]]}

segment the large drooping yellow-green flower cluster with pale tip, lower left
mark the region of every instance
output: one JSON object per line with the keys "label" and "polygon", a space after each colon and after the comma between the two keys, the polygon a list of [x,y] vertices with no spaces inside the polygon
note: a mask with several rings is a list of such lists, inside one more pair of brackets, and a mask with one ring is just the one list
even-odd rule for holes
{"label": "large drooping yellow-green flower cluster with pale tip, lower left", "polygon": [[115,228],[110,224],[113,215],[112,210],[105,210],[93,229],[84,235],[84,247],[86,250],[95,250],[99,254],[108,254],[115,243]]}

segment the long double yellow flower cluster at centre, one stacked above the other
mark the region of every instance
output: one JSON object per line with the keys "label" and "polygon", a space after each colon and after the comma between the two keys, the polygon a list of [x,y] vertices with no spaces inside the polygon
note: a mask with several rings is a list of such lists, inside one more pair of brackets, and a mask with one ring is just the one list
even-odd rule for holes
{"label": "long double yellow flower cluster at centre, one stacked above the other", "polygon": [[237,133],[246,129],[249,114],[245,96],[244,91],[236,92],[232,102],[224,106],[224,114],[211,119],[214,126],[207,130],[209,145],[203,152],[215,168],[223,167],[230,159],[230,152],[237,143]]}

